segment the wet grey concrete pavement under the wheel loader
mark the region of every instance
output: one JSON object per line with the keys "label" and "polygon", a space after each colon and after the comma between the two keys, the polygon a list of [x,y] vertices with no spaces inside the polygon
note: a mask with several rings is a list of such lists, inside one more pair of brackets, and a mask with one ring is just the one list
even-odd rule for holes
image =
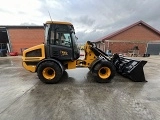
{"label": "wet grey concrete pavement under the wheel loader", "polygon": [[100,84],[77,68],[58,84],[44,84],[21,66],[21,57],[0,58],[0,120],[160,120],[160,56],[135,59],[148,61],[148,82],[116,74]]}

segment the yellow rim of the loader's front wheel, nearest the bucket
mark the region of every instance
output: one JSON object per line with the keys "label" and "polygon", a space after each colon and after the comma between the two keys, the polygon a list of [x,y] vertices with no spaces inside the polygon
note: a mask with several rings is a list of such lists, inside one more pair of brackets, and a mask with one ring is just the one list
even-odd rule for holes
{"label": "yellow rim of the loader's front wheel, nearest the bucket", "polygon": [[111,75],[111,70],[108,67],[102,67],[98,71],[98,75],[99,75],[100,78],[106,79]]}

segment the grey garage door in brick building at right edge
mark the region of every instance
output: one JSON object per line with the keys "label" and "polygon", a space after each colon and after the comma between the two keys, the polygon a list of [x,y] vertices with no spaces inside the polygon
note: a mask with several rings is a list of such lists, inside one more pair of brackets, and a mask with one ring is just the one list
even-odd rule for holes
{"label": "grey garage door in brick building at right edge", "polygon": [[148,43],[147,53],[151,55],[159,55],[160,43]]}

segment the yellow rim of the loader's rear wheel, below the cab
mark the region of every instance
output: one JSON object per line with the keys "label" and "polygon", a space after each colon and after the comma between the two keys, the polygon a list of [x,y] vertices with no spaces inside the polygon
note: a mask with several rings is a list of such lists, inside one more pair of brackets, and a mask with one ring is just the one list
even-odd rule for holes
{"label": "yellow rim of the loader's rear wheel, below the cab", "polygon": [[51,67],[46,67],[43,71],[42,71],[43,77],[47,80],[51,80],[55,77],[55,70]]}

